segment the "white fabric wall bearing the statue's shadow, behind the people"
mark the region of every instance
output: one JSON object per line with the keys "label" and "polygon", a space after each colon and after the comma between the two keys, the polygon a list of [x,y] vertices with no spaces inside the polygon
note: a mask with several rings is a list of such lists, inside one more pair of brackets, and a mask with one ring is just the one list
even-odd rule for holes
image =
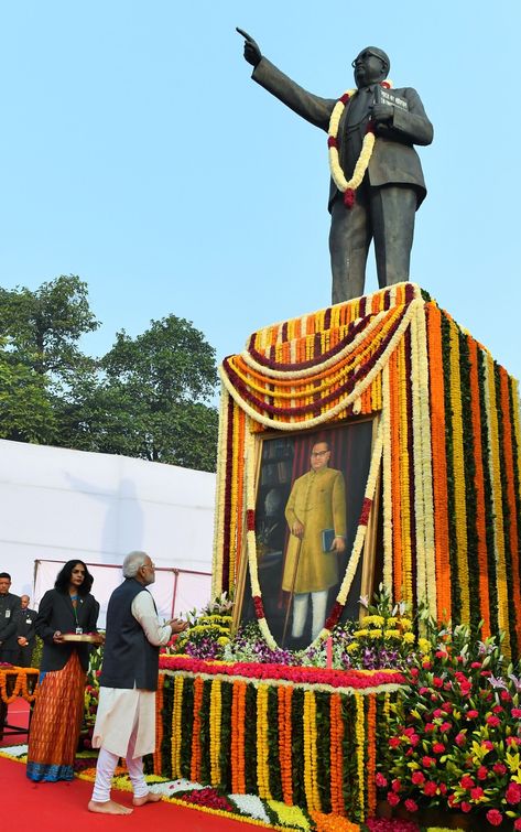
{"label": "white fabric wall bearing the statue's shadow, behind the people", "polygon": [[[176,612],[200,607],[210,593],[214,496],[214,474],[0,440],[0,572],[11,574],[12,592],[34,599],[36,562],[41,597],[41,576],[50,588],[73,558],[110,568],[99,575],[112,571],[117,585],[115,568],[139,549],[176,584]],[[169,598],[160,601],[165,615]]]}

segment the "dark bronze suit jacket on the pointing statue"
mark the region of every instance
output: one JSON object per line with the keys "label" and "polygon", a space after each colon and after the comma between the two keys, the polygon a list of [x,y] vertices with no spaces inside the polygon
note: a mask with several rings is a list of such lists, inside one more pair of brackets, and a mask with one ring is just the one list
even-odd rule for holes
{"label": "dark bronze suit jacket on the pointing statue", "polygon": [[[327,132],[330,115],[337,99],[321,98],[308,93],[265,57],[262,57],[253,69],[252,78],[299,116]],[[425,115],[423,104],[415,89],[399,87],[393,88],[392,93],[399,98],[405,99],[408,109],[404,110],[395,106],[392,121],[389,125],[378,126],[367,176],[369,184],[375,187],[382,185],[410,185],[414,187],[417,194],[417,206],[420,206],[425,197],[426,187],[420,158],[413,144],[431,144],[433,126]],[[361,131],[347,130],[350,106],[351,102],[349,101],[344,110],[338,129],[339,160],[346,179],[349,179],[352,174],[363,138]],[[332,180],[329,209],[337,195],[337,187]]]}

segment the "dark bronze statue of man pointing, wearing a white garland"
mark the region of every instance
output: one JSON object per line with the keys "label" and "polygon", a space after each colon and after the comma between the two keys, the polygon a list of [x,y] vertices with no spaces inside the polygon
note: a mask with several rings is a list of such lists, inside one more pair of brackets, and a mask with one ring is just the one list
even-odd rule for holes
{"label": "dark bronze statue of man pointing, wearing a white garland", "polygon": [[357,89],[340,100],[321,98],[263,57],[247,32],[237,31],[253,80],[329,133],[333,303],[363,294],[371,239],[380,288],[409,280],[414,215],[426,195],[413,145],[433,140],[416,90],[389,89],[389,57],[368,46],[352,62]]}

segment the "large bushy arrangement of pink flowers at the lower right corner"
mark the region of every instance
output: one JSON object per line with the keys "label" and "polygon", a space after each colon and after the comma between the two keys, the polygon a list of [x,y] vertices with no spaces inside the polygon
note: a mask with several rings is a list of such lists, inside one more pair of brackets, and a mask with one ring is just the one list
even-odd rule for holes
{"label": "large bushy arrangement of pink flowers at the lower right corner", "polygon": [[520,669],[506,667],[495,639],[473,638],[465,626],[431,635],[431,658],[405,671],[382,797],[411,813],[457,810],[521,830]]}

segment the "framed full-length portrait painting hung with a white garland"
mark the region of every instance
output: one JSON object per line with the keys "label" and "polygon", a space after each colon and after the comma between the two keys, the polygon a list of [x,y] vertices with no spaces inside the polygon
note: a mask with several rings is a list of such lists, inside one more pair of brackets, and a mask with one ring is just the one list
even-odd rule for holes
{"label": "framed full-length portrait painting hung with a white garland", "polygon": [[[267,623],[280,647],[297,650],[314,641],[335,603],[363,504],[377,421],[258,436],[257,568]],[[358,618],[360,596],[372,595],[377,516],[373,504],[340,622]],[[254,618],[241,557],[234,624]]]}

